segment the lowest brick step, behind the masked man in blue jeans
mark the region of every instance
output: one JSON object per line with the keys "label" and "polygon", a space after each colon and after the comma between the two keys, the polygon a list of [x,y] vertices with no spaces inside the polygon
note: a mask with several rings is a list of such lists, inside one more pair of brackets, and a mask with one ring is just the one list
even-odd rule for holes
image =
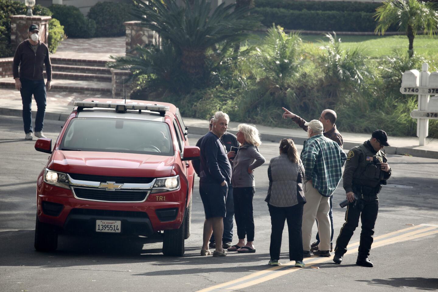
{"label": "lowest brick step, behind the masked man in blue jeans", "polygon": [[[15,88],[14,79],[0,78],[0,88]],[[110,82],[54,79],[52,81],[51,91],[52,90],[82,92],[82,93],[88,93],[88,92],[111,93],[112,87]]]}

